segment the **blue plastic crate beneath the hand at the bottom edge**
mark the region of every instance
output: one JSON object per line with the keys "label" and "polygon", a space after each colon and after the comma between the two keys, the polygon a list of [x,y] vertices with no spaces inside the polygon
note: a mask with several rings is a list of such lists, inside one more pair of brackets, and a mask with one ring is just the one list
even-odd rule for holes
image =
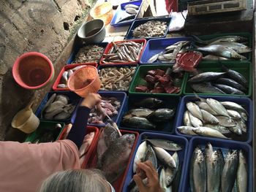
{"label": "blue plastic crate beneath the hand at the bottom edge", "polygon": [[[188,150],[188,147],[189,147],[189,142],[184,137],[178,137],[178,136],[173,136],[173,135],[168,135],[168,134],[156,134],[156,133],[144,132],[143,134],[140,134],[137,145],[135,147],[135,151],[132,155],[132,160],[129,163],[129,169],[128,169],[128,172],[127,172],[127,177],[126,177],[125,182],[124,182],[123,192],[129,191],[128,185],[129,185],[130,180],[132,180],[132,177],[133,177],[133,162],[134,162],[134,159],[135,159],[135,155],[136,155],[136,152],[138,150],[138,147],[140,146],[140,144],[143,142],[143,139],[145,139],[145,138],[148,138],[148,139],[167,139],[167,140],[171,140],[171,141],[176,142],[179,145],[183,146],[182,150],[177,151],[180,164],[182,164],[181,178],[180,178],[180,184],[179,184],[179,190],[178,190],[178,191],[180,191],[181,186],[182,186],[181,181],[184,180],[184,175],[185,175],[184,172],[185,172],[185,166],[186,166],[186,162],[187,162],[187,150]],[[173,153],[175,153],[174,151],[168,151],[168,152],[170,153],[170,155],[173,155]]]}

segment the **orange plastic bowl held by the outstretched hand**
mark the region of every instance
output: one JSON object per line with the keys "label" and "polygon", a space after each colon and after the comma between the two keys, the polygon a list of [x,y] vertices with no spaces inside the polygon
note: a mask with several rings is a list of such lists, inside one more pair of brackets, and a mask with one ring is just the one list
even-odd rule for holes
{"label": "orange plastic bowl held by the outstretched hand", "polygon": [[97,68],[94,66],[84,66],[74,72],[67,81],[67,87],[81,97],[86,97],[88,93],[97,93],[100,88],[100,80]]}

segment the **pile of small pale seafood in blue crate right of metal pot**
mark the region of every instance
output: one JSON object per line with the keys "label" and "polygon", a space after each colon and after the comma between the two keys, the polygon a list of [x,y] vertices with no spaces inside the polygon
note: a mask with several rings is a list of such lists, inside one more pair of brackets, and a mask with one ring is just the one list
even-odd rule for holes
{"label": "pile of small pale seafood in blue crate right of metal pot", "polygon": [[141,24],[132,31],[133,37],[148,38],[148,37],[162,37],[167,30],[167,22],[159,20],[149,20]]}

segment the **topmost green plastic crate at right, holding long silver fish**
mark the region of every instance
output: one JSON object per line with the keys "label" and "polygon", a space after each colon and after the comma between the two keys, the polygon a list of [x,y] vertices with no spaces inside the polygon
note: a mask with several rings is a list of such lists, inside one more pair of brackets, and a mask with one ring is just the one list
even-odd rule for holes
{"label": "topmost green plastic crate at right, holding long silver fish", "polygon": [[[202,35],[202,36],[198,36],[198,37],[202,40],[210,40],[210,39],[214,39],[216,37],[222,37],[222,36],[228,36],[228,35],[236,35],[236,36],[241,36],[241,37],[248,38],[248,45],[247,46],[252,48],[252,34],[250,34],[250,33],[211,34],[211,35]],[[243,53],[241,55],[244,55],[247,58],[246,60],[243,60],[243,61],[252,61],[252,52]],[[234,60],[232,60],[232,61],[234,61]],[[243,61],[241,61],[241,62],[243,62]],[[206,62],[210,62],[210,61],[206,61]]]}

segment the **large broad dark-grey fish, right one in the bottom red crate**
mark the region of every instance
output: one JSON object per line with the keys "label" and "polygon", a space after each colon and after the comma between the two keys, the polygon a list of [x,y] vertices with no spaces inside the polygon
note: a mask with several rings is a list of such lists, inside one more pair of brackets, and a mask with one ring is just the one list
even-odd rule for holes
{"label": "large broad dark-grey fish, right one in the bottom red crate", "polygon": [[98,168],[104,173],[109,183],[113,183],[124,172],[134,142],[134,134],[124,134],[116,139],[102,155],[102,164]]}

